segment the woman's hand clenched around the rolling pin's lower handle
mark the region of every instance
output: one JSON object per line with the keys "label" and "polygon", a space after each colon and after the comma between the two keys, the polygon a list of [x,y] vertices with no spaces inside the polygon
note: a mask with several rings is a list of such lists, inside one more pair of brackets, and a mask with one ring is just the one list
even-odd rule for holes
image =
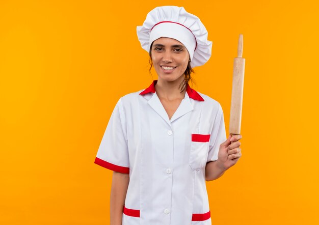
{"label": "woman's hand clenched around the rolling pin's lower handle", "polygon": [[223,170],[228,170],[242,156],[241,148],[239,148],[241,143],[238,142],[240,139],[242,139],[241,134],[233,136],[229,134],[228,139],[220,145],[217,163]]}

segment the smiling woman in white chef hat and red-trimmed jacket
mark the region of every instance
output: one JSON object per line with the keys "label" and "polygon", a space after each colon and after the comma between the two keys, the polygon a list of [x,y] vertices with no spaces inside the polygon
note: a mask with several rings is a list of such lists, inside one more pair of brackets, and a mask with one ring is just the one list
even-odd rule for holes
{"label": "smiling woman in white chef hat and red-trimmed jacket", "polygon": [[183,7],[148,13],[138,38],[158,79],[119,99],[95,163],[113,170],[111,225],[211,224],[205,180],[241,157],[241,135],[226,138],[219,102],[189,86],[211,42]]}

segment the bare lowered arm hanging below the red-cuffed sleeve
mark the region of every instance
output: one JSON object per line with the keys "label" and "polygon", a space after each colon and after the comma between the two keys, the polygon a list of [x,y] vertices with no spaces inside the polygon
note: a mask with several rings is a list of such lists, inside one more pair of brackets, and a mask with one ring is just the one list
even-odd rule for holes
{"label": "bare lowered arm hanging below the red-cuffed sleeve", "polygon": [[123,206],[129,182],[129,174],[113,172],[110,197],[110,224],[122,225]]}

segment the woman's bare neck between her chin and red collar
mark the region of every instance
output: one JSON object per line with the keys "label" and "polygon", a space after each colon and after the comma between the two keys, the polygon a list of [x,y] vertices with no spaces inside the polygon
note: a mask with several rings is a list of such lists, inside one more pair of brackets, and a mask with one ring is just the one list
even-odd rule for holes
{"label": "woman's bare neck between her chin and red collar", "polygon": [[185,97],[186,89],[180,92],[182,87],[179,88],[179,85],[183,80],[184,76],[181,76],[174,81],[158,79],[155,85],[158,98],[167,100],[183,99]]}

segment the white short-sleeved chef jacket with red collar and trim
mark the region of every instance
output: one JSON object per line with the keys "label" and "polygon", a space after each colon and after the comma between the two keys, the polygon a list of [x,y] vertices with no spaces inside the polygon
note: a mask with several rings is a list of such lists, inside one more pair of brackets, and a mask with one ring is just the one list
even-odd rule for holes
{"label": "white short-sleeved chef jacket with red collar and trim", "polygon": [[169,120],[156,82],[119,99],[95,163],[129,174],[123,225],[211,225],[205,165],[227,139],[222,107],[188,85]]}

